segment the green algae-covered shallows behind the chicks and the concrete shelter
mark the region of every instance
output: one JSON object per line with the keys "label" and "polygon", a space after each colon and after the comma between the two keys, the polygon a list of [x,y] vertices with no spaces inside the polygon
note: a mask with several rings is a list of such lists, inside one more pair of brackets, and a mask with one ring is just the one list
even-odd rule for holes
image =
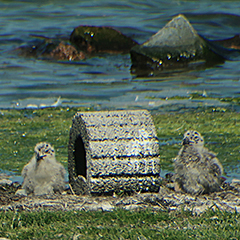
{"label": "green algae-covered shallows behind the chicks and the concrete shelter", "polygon": [[[0,111],[0,169],[20,174],[33,154],[37,142],[48,141],[56,150],[57,159],[67,167],[67,148],[72,117],[89,109],[48,108],[37,110]],[[153,115],[160,141],[161,165],[172,170],[181,139],[188,129],[204,136],[206,146],[218,153],[224,167],[239,162],[240,115],[236,112],[194,111]]]}

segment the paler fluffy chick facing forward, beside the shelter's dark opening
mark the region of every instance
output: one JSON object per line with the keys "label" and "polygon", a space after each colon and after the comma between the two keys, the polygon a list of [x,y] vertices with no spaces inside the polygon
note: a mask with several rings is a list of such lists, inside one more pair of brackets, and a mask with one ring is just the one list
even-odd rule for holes
{"label": "paler fluffy chick facing forward, beside the shelter's dark opening", "polygon": [[46,142],[37,143],[30,162],[23,167],[23,188],[27,194],[45,195],[65,189],[65,169],[55,158],[54,148]]}

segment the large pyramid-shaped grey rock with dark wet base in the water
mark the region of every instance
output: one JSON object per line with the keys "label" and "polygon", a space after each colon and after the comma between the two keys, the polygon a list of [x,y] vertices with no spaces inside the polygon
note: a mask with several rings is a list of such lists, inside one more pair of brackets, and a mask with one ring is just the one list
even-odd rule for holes
{"label": "large pyramid-shaped grey rock with dark wet base in the water", "polygon": [[212,52],[189,21],[178,15],[142,45],[131,49],[132,71],[135,68],[164,70],[187,67],[192,61],[222,61]]}

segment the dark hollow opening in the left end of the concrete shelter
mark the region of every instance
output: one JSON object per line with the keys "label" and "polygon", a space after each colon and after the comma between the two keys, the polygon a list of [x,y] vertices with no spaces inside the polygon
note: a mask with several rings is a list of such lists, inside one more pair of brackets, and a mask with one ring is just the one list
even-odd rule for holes
{"label": "dark hollow opening in the left end of the concrete shelter", "polygon": [[87,162],[86,162],[86,151],[84,148],[83,140],[80,136],[74,144],[74,160],[76,166],[76,174],[82,175],[87,179]]}

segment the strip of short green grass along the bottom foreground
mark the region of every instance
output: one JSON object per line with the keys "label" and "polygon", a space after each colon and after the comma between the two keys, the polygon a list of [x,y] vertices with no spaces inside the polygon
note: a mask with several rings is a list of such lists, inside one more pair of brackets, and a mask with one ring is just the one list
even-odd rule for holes
{"label": "strip of short green grass along the bottom foreground", "polygon": [[240,215],[190,212],[0,213],[0,236],[10,239],[240,239]]}

